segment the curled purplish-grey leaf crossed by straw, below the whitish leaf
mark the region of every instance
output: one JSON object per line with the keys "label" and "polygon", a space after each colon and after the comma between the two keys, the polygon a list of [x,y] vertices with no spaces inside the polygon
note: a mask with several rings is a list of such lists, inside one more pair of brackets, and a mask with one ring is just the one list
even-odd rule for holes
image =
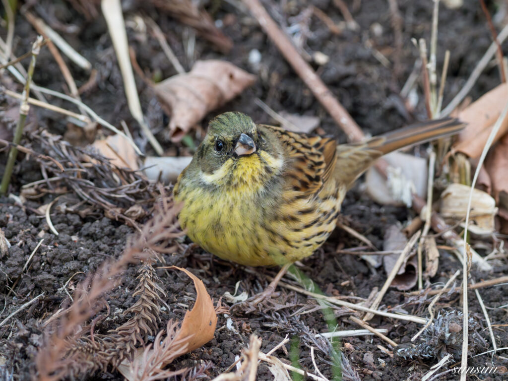
{"label": "curled purplish-grey leaf crossed by straw, below the whitish leaf", "polygon": [[[383,242],[383,250],[396,251],[403,250],[407,244],[407,238],[399,227],[392,225],[388,228],[385,233],[385,240]],[[393,253],[388,256],[383,256],[383,267],[387,274],[392,272],[392,269],[400,257],[400,253]],[[410,290],[416,284],[418,279],[417,274],[417,258],[413,253],[407,256],[399,268],[397,275],[390,284],[391,287],[395,287],[398,290],[406,291]]]}

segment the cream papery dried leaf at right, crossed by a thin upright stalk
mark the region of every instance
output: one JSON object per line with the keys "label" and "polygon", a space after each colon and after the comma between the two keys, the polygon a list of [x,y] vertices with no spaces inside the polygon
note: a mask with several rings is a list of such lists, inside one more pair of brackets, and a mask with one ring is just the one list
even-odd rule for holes
{"label": "cream papery dried leaf at right, crossed by a thin upright stalk", "polygon": [[[466,217],[471,187],[464,184],[450,184],[441,194],[440,213],[445,218],[463,220]],[[472,189],[473,197],[469,213],[469,230],[474,234],[491,234],[494,231],[496,202],[480,189]]]}

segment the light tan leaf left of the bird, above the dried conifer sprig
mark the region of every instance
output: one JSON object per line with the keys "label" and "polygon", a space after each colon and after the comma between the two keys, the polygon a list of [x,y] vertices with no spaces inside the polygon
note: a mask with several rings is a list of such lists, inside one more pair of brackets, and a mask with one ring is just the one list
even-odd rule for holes
{"label": "light tan leaf left of the bird, above the dried conifer sprig", "polygon": [[122,135],[110,135],[106,139],[96,140],[92,147],[111,160],[118,168],[139,169],[138,154],[128,139]]}

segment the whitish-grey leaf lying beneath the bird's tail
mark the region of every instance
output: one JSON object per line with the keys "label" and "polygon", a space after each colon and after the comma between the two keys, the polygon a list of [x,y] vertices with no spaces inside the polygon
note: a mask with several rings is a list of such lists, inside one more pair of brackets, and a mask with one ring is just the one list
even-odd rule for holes
{"label": "whitish-grey leaf lying beneath the bird's tail", "polygon": [[[401,152],[392,152],[384,158],[391,167],[397,169],[398,173],[392,171],[392,179],[387,182],[374,167],[369,168],[365,176],[365,184],[367,193],[375,202],[402,206],[407,201],[402,199],[411,197],[411,186],[414,186],[418,196],[426,198],[428,170],[425,158]],[[398,196],[394,196],[394,192],[398,193]]]}

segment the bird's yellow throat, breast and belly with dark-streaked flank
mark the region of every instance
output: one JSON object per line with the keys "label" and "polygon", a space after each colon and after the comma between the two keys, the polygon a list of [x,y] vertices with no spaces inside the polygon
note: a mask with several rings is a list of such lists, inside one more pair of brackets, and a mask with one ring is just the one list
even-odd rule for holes
{"label": "bird's yellow throat, breast and belly with dark-streaked flank", "polygon": [[243,265],[281,265],[310,256],[335,228],[345,189],[334,183],[319,195],[299,198],[284,188],[282,166],[262,152],[201,173],[201,186],[180,179],[175,195],[183,202],[180,225],[205,250]]}

